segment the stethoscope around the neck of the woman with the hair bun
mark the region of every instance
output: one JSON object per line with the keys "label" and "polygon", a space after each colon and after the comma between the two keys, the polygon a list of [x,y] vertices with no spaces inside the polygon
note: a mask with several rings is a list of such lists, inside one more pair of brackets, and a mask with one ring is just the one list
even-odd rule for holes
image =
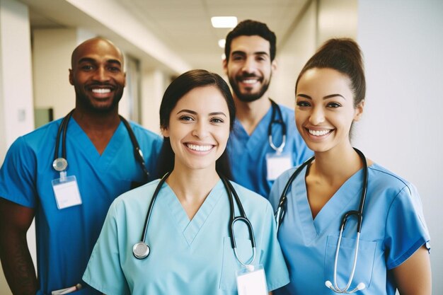
{"label": "stethoscope around the neck of the woman with the hair bun", "polygon": [[[349,291],[350,285],[352,283],[352,279],[354,279],[355,266],[357,265],[358,245],[359,245],[359,241],[360,241],[360,232],[362,231],[363,207],[364,207],[364,200],[366,199],[367,181],[368,181],[368,168],[367,168],[367,163],[366,163],[366,157],[358,149],[355,149],[355,151],[357,152],[357,154],[359,155],[360,159],[363,162],[362,195],[360,197],[360,204],[359,204],[358,211],[351,210],[351,211],[345,212],[345,214],[343,214],[342,221],[340,224],[340,235],[338,236],[337,249],[335,250],[334,276],[333,276],[334,284],[331,283],[330,281],[325,282],[326,287],[333,290],[335,293],[354,293],[354,292],[362,290],[366,287],[364,285],[364,283],[361,282],[361,283],[357,284],[357,287],[355,287],[355,289],[352,289]],[[299,175],[301,170],[303,170],[307,165],[309,165],[309,163],[311,163],[313,161],[313,159],[314,159],[314,157],[309,158],[309,160],[307,160],[306,162],[301,164],[301,166],[299,166],[299,168],[297,168],[297,170],[295,170],[295,172],[292,173],[291,177],[289,178],[286,185],[284,186],[282,195],[280,197],[280,202],[279,202],[277,210],[275,212],[275,220],[277,221],[277,231],[280,228],[280,225],[282,224],[283,217],[286,212],[287,191],[289,190],[289,187],[291,186],[291,184],[295,180],[295,178],[297,178],[297,175]],[[355,245],[354,262],[352,264],[352,272],[351,272],[350,277],[347,281],[346,287],[343,289],[340,289],[337,285],[338,253],[340,253],[340,244],[342,241],[342,234],[343,234],[343,230],[345,229],[346,221],[351,216],[357,217],[357,243]]]}

